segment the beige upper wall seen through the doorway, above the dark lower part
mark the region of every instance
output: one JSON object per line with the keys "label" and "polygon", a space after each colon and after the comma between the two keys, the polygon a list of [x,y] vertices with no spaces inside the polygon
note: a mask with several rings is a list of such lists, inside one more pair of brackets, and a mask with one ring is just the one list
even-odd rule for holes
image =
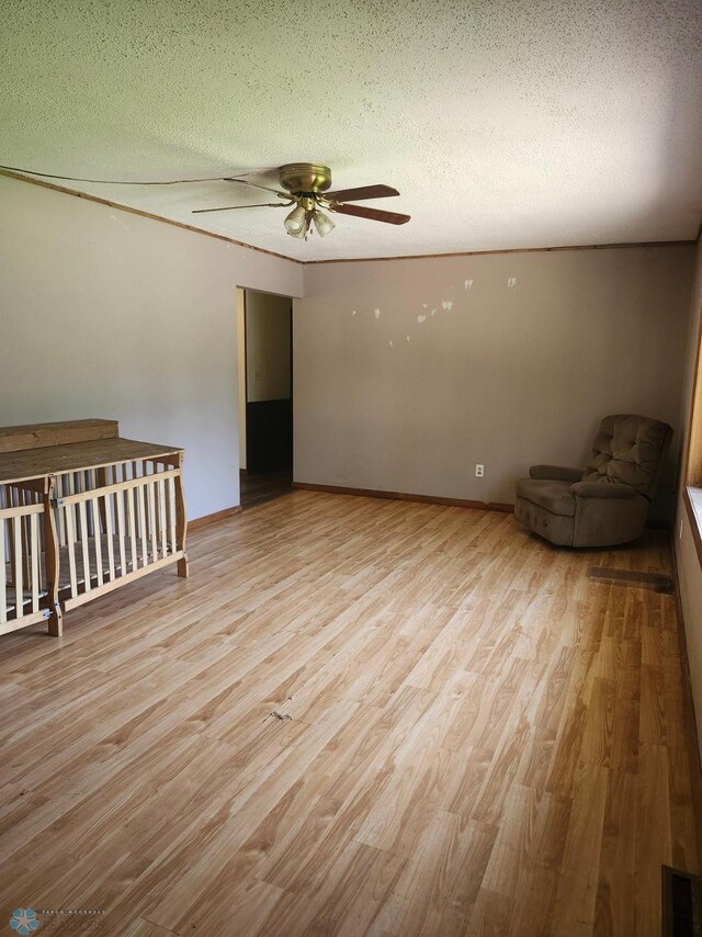
{"label": "beige upper wall seen through the doorway, above the dark lower part", "polygon": [[246,291],[247,399],[287,400],[291,384],[291,300]]}

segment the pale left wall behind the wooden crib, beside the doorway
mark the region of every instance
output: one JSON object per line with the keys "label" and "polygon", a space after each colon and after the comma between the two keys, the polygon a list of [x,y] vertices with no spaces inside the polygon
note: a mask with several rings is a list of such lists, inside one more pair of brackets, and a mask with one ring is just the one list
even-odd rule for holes
{"label": "pale left wall behind the wooden crib, beside the doorway", "polygon": [[302,267],[0,178],[0,425],[111,417],[185,447],[191,518],[239,501],[236,286]]}

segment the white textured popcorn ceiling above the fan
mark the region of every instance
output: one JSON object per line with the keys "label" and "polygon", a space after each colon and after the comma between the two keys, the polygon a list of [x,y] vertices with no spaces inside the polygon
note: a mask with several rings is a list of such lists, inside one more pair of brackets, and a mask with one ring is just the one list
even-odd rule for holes
{"label": "white textured popcorn ceiling above the fan", "polygon": [[299,259],[693,238],[699,0],[7,0],[0,162],[178,179],[309,160],[403,227],[284,233],[226,182],[64,183]]}

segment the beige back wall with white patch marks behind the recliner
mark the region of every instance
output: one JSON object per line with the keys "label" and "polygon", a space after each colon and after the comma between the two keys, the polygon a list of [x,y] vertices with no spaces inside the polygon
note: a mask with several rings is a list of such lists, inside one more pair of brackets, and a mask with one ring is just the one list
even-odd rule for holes
{"label": "beige back wall with white patch marks behind the recliner", "polygon": [[[605,414],[667,420],[679,445],[693,256],[688,246],[306,267],[296,481],[512,503],[530,464],[581,465]],[[669,504],[673,487],[670,468]]]}

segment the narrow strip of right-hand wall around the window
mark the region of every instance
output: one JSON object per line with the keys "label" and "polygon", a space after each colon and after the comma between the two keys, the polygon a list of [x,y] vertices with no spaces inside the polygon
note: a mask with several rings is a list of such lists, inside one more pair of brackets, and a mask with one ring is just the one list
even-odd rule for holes
{"label": "narrow strip of right-hand wall around the window", "polygon": [[[690,306],[690,330],[683,400],[683,419],[687,422],[694,377],[697,346],[700,335],[700,308],[702,307],[702,241],[698,246],[697,274]],[[700,415],[702,417],[702,414]],[[682,495],[682,486],[681,486]],[[682,504],[678,500],[678,520],[676,523],[676,558],[678,561],[678,580],[680,600],[684,619],[684,631],[690,661],[690,679],[698,726],[702,726],[702,567],[697,554],[690,521]],[[698,735],[698,741],[700,741]],[[702,756],[702,746],[700,749]]]}

